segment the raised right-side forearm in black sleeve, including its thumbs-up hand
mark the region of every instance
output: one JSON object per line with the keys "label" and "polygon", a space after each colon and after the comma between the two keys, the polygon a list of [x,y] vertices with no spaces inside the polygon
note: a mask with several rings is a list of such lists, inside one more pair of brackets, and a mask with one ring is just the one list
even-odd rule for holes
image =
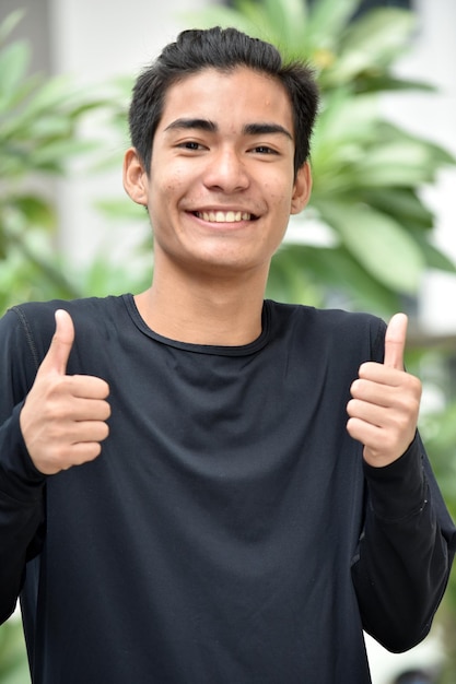
{"label": "raised right-side forearm in black sleeve, including its thumbs-up hand", "polygon": [[384,363],[353,382],[347,428],[363,444],[365,524],[352,575],[363,626],[386,648],[428,634],[453,561],[454,526],[417,434],[418,378],[404,370],[407,318],[395,316]]}

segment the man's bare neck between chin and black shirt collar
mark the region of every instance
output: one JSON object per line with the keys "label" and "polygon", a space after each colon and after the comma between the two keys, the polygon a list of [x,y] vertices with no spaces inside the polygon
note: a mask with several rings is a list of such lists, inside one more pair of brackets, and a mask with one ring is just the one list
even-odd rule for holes
{"label": "man's bare neck between chin and black shirt collar", "polygon": [[191,282],[155,271],[152,286],[135,297],[154,332],[179,342],[239,346],[261,333],[266,276],[209,279]]}

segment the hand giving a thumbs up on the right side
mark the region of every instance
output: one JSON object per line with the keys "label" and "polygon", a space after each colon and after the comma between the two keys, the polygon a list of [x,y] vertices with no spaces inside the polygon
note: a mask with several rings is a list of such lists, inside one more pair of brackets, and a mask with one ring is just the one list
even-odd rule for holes
{"label": "hand giving a thumbs up on the right side", "polygon": [[421,382],[404,370],[407,316],[396,314],[386,330],[383,364],[362,364],[347,405],[349,434],[364,445],[364,459],[374,467],[391,463],[413,440]]}

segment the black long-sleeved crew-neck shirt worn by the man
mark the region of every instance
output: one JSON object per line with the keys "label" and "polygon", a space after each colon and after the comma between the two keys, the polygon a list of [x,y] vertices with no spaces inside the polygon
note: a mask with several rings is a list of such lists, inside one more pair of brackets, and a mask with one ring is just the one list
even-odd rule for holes
{"label": "black long-sleeved crew-neck shirt worn by the man", "polygon": [[[98,459],[46,477],[19,414],[58,307],[112,417]],[[428,634],[455,547],[429,460],[417,436],[370,468],[346,429],[384,323],[272,302],[262,323],[185,344],[130,295],[0,321],[0,618],[21,593],[35,684],[366,684],[363,628]]]}

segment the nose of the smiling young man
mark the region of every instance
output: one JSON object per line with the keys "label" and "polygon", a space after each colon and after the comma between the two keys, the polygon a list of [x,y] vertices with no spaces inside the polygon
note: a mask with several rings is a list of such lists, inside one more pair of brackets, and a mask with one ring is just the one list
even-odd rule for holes
{"label": "nose of the smiling young man", "polygon": [[238,192],[249,185],[245,162],[232,148],[212,151],[204,173],[204,185],[223,192]]}

